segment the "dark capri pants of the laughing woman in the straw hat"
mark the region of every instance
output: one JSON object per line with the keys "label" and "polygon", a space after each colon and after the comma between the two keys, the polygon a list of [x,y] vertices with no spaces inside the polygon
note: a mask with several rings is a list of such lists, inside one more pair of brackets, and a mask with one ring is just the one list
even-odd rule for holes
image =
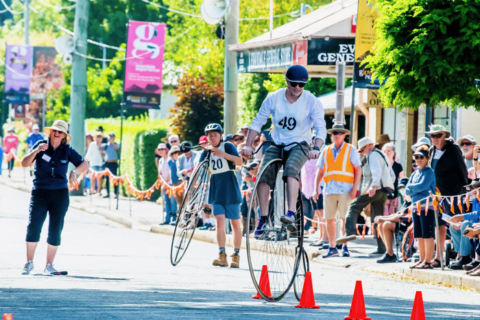
{"label": "dark capri pants of the laughing woman in the straw hat", "polygon": [[69,189],[34,189],[30,198],[29,218],[27,226],[27,242],[40,241],[40,232],[49,213],[48,237],[49,245],[60,245],[65,214],[69,209]]}

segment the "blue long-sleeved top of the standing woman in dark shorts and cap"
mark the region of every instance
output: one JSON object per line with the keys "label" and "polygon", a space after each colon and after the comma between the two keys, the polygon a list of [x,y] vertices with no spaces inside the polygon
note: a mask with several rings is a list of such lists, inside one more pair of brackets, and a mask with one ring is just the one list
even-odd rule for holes
{"label": "blue long-sleeved top of the standing woman in dark shorts and cap", "polygon": [[[411,197],[411,203],[415,203],[420,199],[424,199],[430,195],[429,191],[435,194],[435,171],[431,167],[423,167],[413,172],[405,186],[405,195]],[[425,204],[427,200],[423,200],[420,204]]]}

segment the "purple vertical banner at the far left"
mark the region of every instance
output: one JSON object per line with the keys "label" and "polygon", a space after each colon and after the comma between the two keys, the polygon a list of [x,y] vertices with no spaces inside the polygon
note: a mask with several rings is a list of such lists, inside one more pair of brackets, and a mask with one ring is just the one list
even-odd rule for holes
{"label": "purple vertical banner at the far left", "polygon": [[27,104],[32,77],[32,47],[7,45],[5,53],[5,101]]}

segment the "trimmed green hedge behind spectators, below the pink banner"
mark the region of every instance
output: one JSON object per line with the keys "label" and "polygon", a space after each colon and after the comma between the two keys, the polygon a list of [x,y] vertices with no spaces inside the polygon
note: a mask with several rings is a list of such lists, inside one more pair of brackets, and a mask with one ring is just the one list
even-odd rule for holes
{"label": "trimmed green hedge behind spectators, below the pink banner", "polygon": [[[86,134],[95,134],[95,130],[99,125],[104,127],[104,134],[109,134],[114,132],[116,135],[115,141],[120,143],[120,118],[105,118],[105,119],[86,119]],[[150,120],[148,116],[139,116],[136,118],[123,119],[123,141],[121,147],[121,174],[125,173],[130,177],[130,180],[135,184],[135,188],[139,190],[144,190],[141,186],[141,181],[145,180],[145,177],[137,177],[139,171],[136,170],[136,162],[139,160],[139,157],[143,156],[142,153],[139,153],[138,149],[135,146],[135,141],[137,135],[146,130],[159,130],[160,138],[166,136],[168,129],[167,121],[165,120]],[[157,136],[158,137],[158,136]],[[152,172],[149,172],[148,175],[156,175],[155,160],[154,160],[154,148],[160,143],[160,138],[154,143],[154,147],[145,151],[145,157],[152,156],[152,158],[145,158],[145,161],[152,159]],[[145,164],[146,165],[146,164]],[[147,173],[145,173],[147,174]],[[153,183],[152,183],[153,184]],[[150,184],[149,186],[152,186]],[[148,188],[147,186],[146,188]],[[123,194],[125,195],[125,188],[121,188]],[[152,199],[154,197],[152,196]]]}

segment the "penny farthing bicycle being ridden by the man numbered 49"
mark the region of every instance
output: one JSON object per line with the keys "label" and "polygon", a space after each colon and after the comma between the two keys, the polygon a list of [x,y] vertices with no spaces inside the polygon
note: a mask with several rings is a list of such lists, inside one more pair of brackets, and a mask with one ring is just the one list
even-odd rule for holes
{"label": "penny farthing bicycle being ridden by the man numbered 49", "polygon": [[[269,141],[265,143],[271,143]],[[264,144],[264,143],[263,143]],[[257,149],[260,150],[263,144]],[[275,145],[274,143],[271,143]],[[277,173],[268,177],[269,186],[268,199],[268,221],[263,228],[263,234],[255,236],[256,226],[247,226],[247,256],[250,275],[256,291],[266,301],[280,301],[293,285],[294,293],[300,301],[303,280],[306,271],[309,271],[309,260],[303,249],[303,207],[302,193],[298,191],[298,198],[295,212],[295,222],[283,223],[280,217],[287,213],[287,185],[282,179],[283,153],[286,147],[300,145],[290,143],[289,145],[275,145],[280,148],[280,158],[270,160],[263,166],[256,176],[256,183],[250,195],[250,206],[248,206],[247,221],[260,217],[259,182],[265,180],[265,172],[274,168]],[[301,146],[300,146],[301,147]],[[303,149],[302,149],[303,151]],[[305,153],[305,151],[303,151]],[[307,154],[305,153],[307,156]],[[258,223],[258,222],[257,222]],[[267,271],[269,285],[265,285],[265,271]],[[262,278],[263,275],[263,279]]]}

